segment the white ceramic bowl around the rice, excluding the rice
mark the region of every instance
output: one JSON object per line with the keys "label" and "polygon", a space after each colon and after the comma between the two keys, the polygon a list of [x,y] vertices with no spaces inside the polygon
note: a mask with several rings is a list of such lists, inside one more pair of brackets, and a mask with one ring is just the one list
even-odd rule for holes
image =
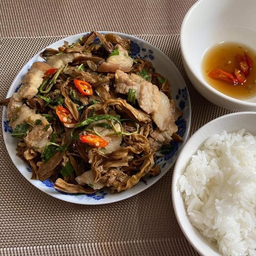
{"label": "white ceramic bowl around the rice, excluding the rice", "polygon": [[223,132],[236,132],[245,128],[246,132],[256,135],[256,112],[238,112],[225,116],[220,116],[202,126],[196,131],[185,146],[182,148],[177,158],[172,176],[172,204],[180,228],[190,244],[203,256],[221,256],[218,248],[213,243],[206,241],[204,236],[191,224],[188,219],[182,193],[178,180],[188,166],[191,156],[204,145],[204,142],[212,135]]}

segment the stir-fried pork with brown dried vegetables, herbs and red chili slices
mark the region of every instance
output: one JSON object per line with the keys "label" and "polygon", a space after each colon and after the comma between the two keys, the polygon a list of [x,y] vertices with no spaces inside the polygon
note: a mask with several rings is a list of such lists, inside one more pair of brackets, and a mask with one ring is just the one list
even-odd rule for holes
{"label": "stir-fried pork with brown dried vegetables, herbs and red chili slices", "polygon": [[40,56],[1,101],[32,179],[67,193],[113,193],[160,173],[156,156],[181,141],[181,111],[166,77],[130,55],[130,40],[91,32]]}

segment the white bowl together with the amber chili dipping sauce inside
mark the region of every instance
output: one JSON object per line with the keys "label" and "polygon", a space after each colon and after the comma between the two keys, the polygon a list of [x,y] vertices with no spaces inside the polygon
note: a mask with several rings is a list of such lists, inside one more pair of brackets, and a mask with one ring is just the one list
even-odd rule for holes
{"label": "white bowl together with the amber chili dipping sauce inside", "polygon": [[200,0],[180,30],[185,71],[213,104],[256,111],[255,0]]}

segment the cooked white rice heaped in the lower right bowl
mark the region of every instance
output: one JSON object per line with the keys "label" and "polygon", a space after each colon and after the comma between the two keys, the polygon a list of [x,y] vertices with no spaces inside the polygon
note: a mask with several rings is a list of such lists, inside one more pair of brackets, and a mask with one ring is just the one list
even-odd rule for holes
{"label": "cooked white rice heaped in the lower right bowl", "polygon": [[225,256],[256,256],[256,136],[244,132],[210,137],[179,179],[190,221]]}

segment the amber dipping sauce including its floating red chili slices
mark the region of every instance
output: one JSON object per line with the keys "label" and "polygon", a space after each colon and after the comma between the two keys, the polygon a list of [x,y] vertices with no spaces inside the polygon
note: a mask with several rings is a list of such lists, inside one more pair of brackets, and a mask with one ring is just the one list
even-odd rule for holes
{"label": "amber dipping sauce including its floating red chili slices", "polygon": [[221,42],[202,57],[204,80],[214,89],[238,100],[256,99],[256,52],[247,45]]}

